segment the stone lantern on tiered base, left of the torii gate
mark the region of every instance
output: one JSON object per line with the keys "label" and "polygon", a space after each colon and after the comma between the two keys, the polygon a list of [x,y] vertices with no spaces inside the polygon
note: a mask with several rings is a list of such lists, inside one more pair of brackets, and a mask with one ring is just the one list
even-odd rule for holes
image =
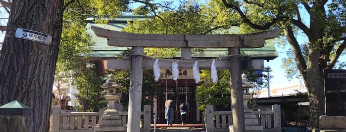
{"label": "stone lantern on tiered base, left of the torii gate", "polygon": [[120,101],[122,93],[119,93],[120,85],[114,80],[114,75],[110,74],[109,79],[102,85],[101,88],[107,90],[107,94],[103,97],[108,101],[108,108],[104,111],[99,119],[99,126],[95,127],[95,132],[124,132],[125,126],[118,111],[115,109],[115,103]]}

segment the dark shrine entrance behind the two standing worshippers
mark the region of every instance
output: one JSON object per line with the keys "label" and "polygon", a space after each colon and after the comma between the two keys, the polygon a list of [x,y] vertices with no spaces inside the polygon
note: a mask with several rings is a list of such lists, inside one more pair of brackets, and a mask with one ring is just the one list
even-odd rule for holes
{"label": "dark shrine entrance behind the two standing worshippers", "polygon": [[[185,81],[187,82],[187,86],[185,86]],[[178,82],[178,85],[176,85]],[[158,124],[166,124],[165,119],[165,108],[164,104],[166,101],[165,95],[165,80],[160,80],[162,94],[157,96],[157,121]],[[173,108],[173,124],[181,124],[181,116],[179,106],[181,103],[185,103],[187,96],[187,123],[194,124],[197,123],[197,103],[195,99],[196,94],[196,83],[194,79],[181,79],[181,80],[167,80],[167,95],[173,97],[175,107]]]}

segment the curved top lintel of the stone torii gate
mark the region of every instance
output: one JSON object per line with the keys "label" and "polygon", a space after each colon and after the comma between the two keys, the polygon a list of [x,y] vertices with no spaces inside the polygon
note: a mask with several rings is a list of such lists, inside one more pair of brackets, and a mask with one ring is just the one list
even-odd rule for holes
{"label": "curved top lintel of the stone torii gate", "polygon": [[162,47],[162,48],[259,48],[264,40],[276,37],[280,29],[249,34],[139,34],[112,31],[97,26],[91,29],[99,37],[107,38],[109,46]]}

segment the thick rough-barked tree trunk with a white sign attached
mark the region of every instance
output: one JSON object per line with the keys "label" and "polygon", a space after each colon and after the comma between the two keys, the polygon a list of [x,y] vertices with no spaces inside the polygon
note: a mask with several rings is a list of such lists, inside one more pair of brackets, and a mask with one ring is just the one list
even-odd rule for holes
{"label": "thick rough-barked tree trunk with a white sign attached", "polygon": [[[0,104],[18,100],[32,108],[30,132],[49,131],[63,0],[13,0],[0,56]],[[16,28],[52,36],[50,45],[15,38]]]}

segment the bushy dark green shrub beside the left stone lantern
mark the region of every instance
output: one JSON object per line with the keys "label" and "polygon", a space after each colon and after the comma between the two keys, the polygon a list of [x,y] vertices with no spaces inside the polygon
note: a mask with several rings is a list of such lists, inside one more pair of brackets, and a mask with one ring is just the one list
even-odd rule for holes
{"label": "bushy dark green shrub beside the left stone lantern", "polygon": [[103,98],[106,92],[99,86],[106,80],[96,69],[94,66],[87,67],[75,75],[75,85],[79,91],[75,96],[83,105],[82,111],[99,111],[99,108],[107,106],[107,100]]}

